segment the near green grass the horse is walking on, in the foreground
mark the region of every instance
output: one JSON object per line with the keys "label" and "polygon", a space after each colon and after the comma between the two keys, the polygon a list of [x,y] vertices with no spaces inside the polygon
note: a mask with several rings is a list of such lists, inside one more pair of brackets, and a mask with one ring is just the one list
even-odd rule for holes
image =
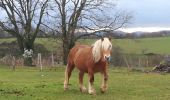
{"label": "near green grass the horse is walking on, in the foreground", "polygon": [[[85,85],[87,86],[87,75]],[[0,66],[0,100],[169,100],[170,75],[132,72],[125,68],[110,68],[108,91],[99,91],[101,76],[95,75],[97,95],[82,94],[78,87],[78,72],[74,70],[70,90],[63,90],[64,68],[39,71],[20,68],[16,71]]]}

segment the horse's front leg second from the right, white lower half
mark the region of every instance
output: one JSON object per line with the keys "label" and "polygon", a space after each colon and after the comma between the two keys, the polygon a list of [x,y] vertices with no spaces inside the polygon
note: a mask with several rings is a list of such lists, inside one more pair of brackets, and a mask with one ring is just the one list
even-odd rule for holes
{"label": "horse's front leg second from the right, white lower half", "polygon": [[88,88],[88,93],[89,94],[96,94],[95,89],[93,88],[93,82],[94,82],[94,73],[88,73],[89,74],[89,88]]}

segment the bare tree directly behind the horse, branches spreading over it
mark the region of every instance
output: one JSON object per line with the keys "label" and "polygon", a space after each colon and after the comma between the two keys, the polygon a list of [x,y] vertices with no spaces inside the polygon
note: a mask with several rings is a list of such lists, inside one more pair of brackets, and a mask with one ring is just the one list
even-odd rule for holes
{"label": "bare tree directly behind the horse, branches spreading over it", "polygon": [[[111,0],[54,0],[57,30],[63,41],[63,62],[67,63],[69,50],[83,36],[98,35],[124,27],[131,16],[124,12],[113,14]],[[54,9],[52,9],[54,10]],[[75,35],[81,32],[83,34]]]}

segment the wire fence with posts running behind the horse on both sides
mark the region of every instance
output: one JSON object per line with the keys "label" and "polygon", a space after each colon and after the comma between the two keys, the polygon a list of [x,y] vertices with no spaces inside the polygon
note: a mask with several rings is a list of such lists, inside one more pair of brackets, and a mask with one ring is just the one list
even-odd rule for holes
{"label": "wire fence with posts running behind the horse on both sides", "polygon": [[[114,67],[154,67],[159,64],[164,55],[130,55],[130,54],[112,54],[110,65]],[[63,66],[62,56],[51,53],[44,55],[38,53],[32,58],[32,67],[51,68]],[[12,68],[24,67],[24,58],[15,56],[5,56],[0,58],[0,65],[12,66]]]}

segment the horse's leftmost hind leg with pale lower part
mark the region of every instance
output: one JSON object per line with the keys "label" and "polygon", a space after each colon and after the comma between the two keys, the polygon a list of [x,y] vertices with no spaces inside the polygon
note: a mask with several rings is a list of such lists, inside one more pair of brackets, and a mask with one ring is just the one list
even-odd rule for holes
{"label": "horse's leftmost hind leg with pale lower part", "polygon": [[65,80],[64,80],[64,90],[68,89],[69,79],[71,76],[71,72],[74,69],[74,65],[67,64],[66,70],[65,70]]}

